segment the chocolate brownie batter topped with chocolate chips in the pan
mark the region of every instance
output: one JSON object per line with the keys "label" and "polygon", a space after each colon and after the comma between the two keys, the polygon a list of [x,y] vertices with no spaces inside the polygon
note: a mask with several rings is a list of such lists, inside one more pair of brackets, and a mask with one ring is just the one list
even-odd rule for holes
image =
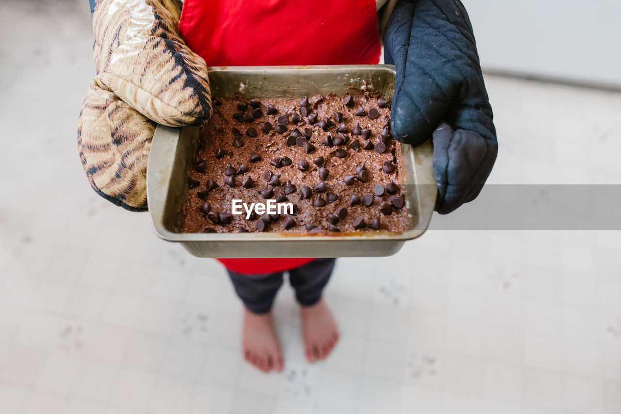
{"label": "chocolate brownie batter topped with chocolate chips in the pan", "polygon": [[[404,231],[401,148],[390,103],[364,91],[302,99],[217,99],[188,178],[183,232]],[[232,214],[232,200],[294,214]]]}

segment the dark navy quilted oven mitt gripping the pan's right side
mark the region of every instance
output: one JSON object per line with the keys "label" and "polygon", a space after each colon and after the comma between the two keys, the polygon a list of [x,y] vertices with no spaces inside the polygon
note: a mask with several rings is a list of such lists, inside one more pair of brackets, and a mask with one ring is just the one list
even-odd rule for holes
{"label": "dark navy quilted oven mitt gripping the pan's right side", "polygon": [[436,210],[450,213],[479,195],[498,152],[466,9],[458,0],[401,0],[384,46],[397,70],[392,134],[413,145],[433,136]]}

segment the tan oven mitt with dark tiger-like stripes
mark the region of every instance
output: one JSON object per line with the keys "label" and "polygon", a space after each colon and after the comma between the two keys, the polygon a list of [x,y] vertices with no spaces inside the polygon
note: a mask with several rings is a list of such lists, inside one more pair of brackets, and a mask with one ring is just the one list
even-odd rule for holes
{"label": "tan oven mitt with dark tiger-like stripes", "polygon": [[91,0],[96,76],[78,121],[91,186],[112,203],[147,209],[147,159],[156,124],[211,116],[207,67],[181,39],[178,0]]}

